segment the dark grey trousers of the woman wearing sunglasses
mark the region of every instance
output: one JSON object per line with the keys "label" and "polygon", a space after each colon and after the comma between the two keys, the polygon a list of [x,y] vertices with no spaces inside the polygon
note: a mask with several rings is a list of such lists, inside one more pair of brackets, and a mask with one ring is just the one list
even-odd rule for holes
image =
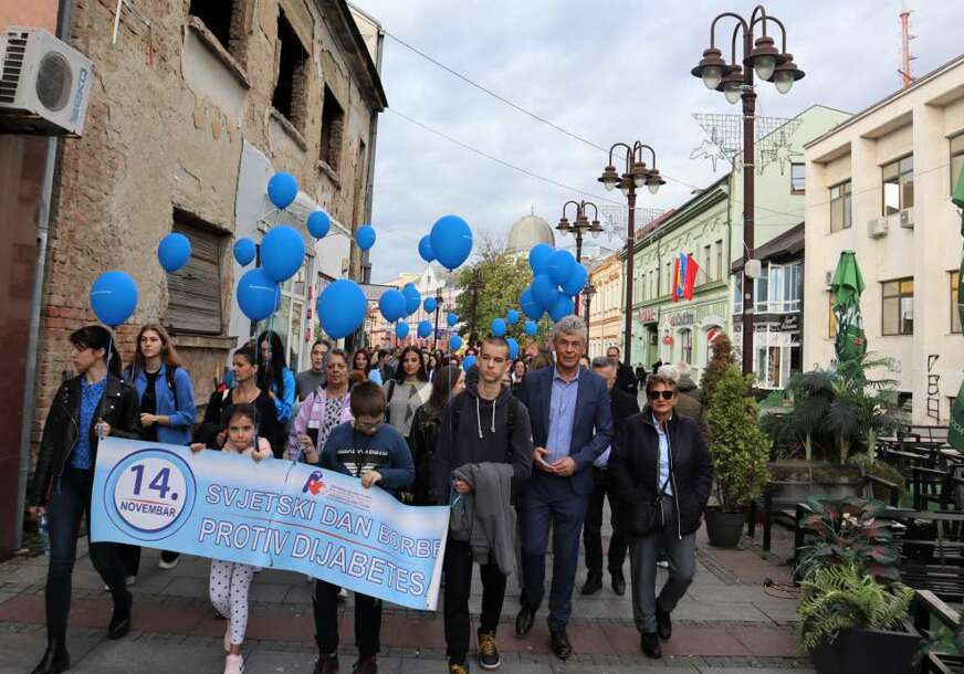
{"label": "dark grey trousers of the woman wearing sunglasses", "polygon": [[[640,632],[656,632],[656,608],[672,612],[693,581],[696,568],[696,534],[677,535],[677,509],[671,496],[663,499],[666,526],[629,539],[629,567],[632,575],[632,620]],[[670,562],[670,577],[656,596],[656,562],[660,548]]]}

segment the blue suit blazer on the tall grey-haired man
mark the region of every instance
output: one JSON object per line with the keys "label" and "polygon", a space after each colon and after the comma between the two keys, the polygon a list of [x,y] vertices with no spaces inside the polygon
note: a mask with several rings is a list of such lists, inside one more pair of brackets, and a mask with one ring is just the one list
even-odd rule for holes
{"label": "blue suit blazer on the tall grey-haired man", "polygon": [[[528,408],[533,445],[537,447],[546,446],[549,435],[549,407],[555,373],[554,367],[530,372],[518,391],[518,399]],[[594,483],[593,472],[589,468],[611,442],[612,410],[606,381],[595,372],[581,368],[573,422],[573,442],[569,447],[569,456],[576,462],[576,472],[568,478],[556,477],[533,466],[532,480],[548,480],[549,483],[568,480],[576,494],[583,496],[591,494]]]}

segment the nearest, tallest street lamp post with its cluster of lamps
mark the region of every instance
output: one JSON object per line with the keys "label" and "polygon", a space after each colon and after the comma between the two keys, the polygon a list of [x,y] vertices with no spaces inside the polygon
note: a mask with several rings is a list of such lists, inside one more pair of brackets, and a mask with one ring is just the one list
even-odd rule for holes
{"label": "nearest, tallest street lamp post with its cluster of lamps", "polygon": [[[715,46],[716,22],[723,18],[736,20],[730,48],[730,63],[723,59],[723,53]],[[774,46],[774,40],[767,35],[767,24],[775,23],[783,36],[783,51]],[[754,41],[754,34],[759,29],[761,36]],[[743,65],[736,62],[736,39],[743,32]],[[753,275],[748,274],[748,263],[753,257],[753,214],[754,214],[754,177],[755,167],[755,115],[756,92],[753,88],[753,72],[765,82],[773,82],[776,91],[786,94],[794,82],[804,76],[804,71],[794,63],[794,55],[787,52],[787,32],[783,22],[776,17],[767,15],[762,4],[754,8],[750,21],[733,12],[723,12],[710,24],[710,48],[703,51],[703,57],[691,73],[700,77],[706,88],[723,92],[732,104],[743,101],[743,371],[753,372]],[[748,170],[747,170],[748,169]]]}

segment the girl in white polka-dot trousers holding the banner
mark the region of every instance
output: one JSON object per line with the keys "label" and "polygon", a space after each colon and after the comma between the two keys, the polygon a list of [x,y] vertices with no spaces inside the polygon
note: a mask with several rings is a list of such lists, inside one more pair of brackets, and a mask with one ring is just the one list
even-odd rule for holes
{"label": "girl in white polka-dot trousers holding the banner", "polygon": [[[224,444],[222,452],[244,454],[255,462],[272,456],[271,444],[264,436],[258,438],[258,449],[254,438],[258,426],[254,421],[253,404],[240,403],[229,407],[224,412]],[[205,445],[200,442],[191,444],[191,452],[200,452]],[[247,564],[211,560],[211,579],[209,591],[211,603],[221,615],[229,618],[228,630],[224,632],[224,674],[241,674],[244,671],[244,659],[241,656],[241,644],[244,642],[244,631],[248,628],[248,590],[254,578],[254,567]]]}

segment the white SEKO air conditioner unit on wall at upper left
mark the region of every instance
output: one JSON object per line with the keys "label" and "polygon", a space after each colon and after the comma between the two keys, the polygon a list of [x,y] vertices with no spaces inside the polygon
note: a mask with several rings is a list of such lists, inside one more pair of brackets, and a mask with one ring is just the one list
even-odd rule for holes
{"label": "white SEKO air conditioner unit on wall at upper left", "polygon": [[80,136],[94,63],[39,28],[0,35],[0,133]]}

